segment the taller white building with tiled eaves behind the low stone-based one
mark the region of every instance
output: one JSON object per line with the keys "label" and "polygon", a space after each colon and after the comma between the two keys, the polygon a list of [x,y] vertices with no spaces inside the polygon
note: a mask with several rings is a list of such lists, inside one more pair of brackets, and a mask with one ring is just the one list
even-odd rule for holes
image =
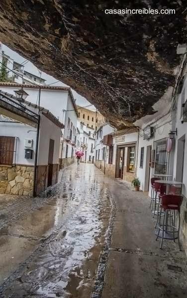
{"label": "taller white building with tiled eaves behind the low stone-based one", "polygon": [[[14,91],[22,88],[21,84],[2,83],[0,89],[11,94]],[[77,134],[78,111],[75,104],[72,91],[69,87],[61,86],[40,86],[24,84],[24,91],[28,94],[27,100],[33,104],[39,104],[51,111],[60,122],[65,124],[65,129],[62,130],[62,138],[60,144],[60,167],[69,165],[75,159],[75,145]]]}

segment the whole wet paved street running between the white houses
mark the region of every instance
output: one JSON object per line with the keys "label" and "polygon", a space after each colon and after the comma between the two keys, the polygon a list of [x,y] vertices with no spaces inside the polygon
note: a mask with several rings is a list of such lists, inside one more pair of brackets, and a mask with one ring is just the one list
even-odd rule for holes
{"label": "whole wet paved street running between the white houses", "polygon": [[38,198],[0,201],[0,297],[187,297],[185,254],[159,248],[148,197],[93,164],[65,168]]}

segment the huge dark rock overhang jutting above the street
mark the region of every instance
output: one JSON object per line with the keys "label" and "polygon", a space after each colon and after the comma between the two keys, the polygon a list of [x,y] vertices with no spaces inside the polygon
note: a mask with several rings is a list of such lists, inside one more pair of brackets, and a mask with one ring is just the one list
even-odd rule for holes
{"label": "huge dark rock overhang jutting above the street", "polygon": [[[185,2],[1,0],[0,40],[122,128],[152,114],[152,105],[173,85],[176,47],[187,34]],[[104,13],[125,7],[176,13]]]}

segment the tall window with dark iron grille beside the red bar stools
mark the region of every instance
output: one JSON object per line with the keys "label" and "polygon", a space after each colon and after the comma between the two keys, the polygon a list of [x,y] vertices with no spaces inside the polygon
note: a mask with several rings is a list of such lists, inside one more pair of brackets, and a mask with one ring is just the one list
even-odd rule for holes
{"label": "tall window with dark iron grille beside the red bar stools", "polygon": [[167,140],[163,138],[153,143],[152,174],[167,175],[169,153],[167,152]]}

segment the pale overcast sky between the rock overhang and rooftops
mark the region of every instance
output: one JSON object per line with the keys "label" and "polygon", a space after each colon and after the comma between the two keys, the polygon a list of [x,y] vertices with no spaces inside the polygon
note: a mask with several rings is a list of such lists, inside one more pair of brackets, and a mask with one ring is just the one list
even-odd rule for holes
{"label": "pale overcast sky between the rock overhang and rooftops", "polygon": [[[6,54],[7,56],[9,56],[11,59],[13,59],[14,61],[18,62],[18,63],[23,63],[25,61],[25,58],[21,57],[19,54],[17,54],[16,52],[12,51],[11,49],[9,49],[7,46],[2,45],[2,51],[4,51],[4,54]],[[37,69],[37,67],[35,67],[30,61],[24,64],[24,71],[29,72],[31,74],[35,74],[37,76],[40,76],[40,73]],[[42,72],[41,75],[42,78],[46,79],[46,84],[51,84],[57,81],[56,78],[52,77],[49,74],[45,74]],[[64,84],[63,82],[57,82],[54,83],[53,86],[67,86],[66,84]],[[78,94],[75,90],[73,90],[73,95],[74,98],[76,99],[76,104],[80,105],[80,106],[87,106],[89,104],[91,104],[85,97],[81,96],[80,94]],[[90,110],[95,110],[94,105],[87,107]]]}

